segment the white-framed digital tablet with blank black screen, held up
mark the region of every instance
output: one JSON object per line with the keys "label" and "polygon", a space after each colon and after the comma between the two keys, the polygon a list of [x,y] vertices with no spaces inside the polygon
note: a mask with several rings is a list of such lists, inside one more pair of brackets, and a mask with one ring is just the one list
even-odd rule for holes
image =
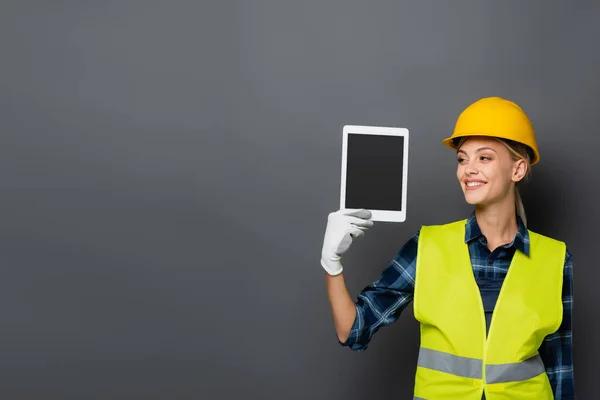
{"label": "white-framed digital tablet with blank black screen, held up", "polygon": [[340,209],[371,211],[373,221],[404,222],[408,129],[346,125]]}

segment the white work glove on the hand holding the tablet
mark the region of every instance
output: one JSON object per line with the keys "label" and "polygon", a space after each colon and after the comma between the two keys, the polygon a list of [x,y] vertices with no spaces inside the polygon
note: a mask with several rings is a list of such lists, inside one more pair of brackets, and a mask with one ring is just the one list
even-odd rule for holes
{"label": "white work glove on the hand holding the tablet", "polygon": [[321,266],[329,275],[342,272],[342,254],[350,248],[353,238],[363,236],[373,226],[370,218],[371,212],[364,209],[338,210],[329,214],[321,251]]}

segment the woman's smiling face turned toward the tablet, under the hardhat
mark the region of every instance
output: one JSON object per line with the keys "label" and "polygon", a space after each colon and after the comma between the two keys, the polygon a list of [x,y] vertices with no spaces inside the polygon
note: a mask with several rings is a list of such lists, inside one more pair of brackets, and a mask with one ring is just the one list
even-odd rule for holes
{"label": "woman's smiling face turned toward the tablet, under the hardhat", "polygon": [[515,183],[527,172],[525,160],[515,160],[499,140],[478,136],[466,139],[456,156],[456,177],[467,203],[491,205],[514,202]]}

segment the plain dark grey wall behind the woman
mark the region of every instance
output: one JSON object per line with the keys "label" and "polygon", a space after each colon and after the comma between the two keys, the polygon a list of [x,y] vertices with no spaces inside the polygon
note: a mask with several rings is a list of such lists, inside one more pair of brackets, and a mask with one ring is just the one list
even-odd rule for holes
{"label": "plain dark grey wall behind the woman", "polygon": [[567,241],[577,391],[596,397],[600,4],[0,2],[0,398],[409,399],[412,307],[337,344],[319,265],[344,124],[410,129],[408,217],[354,297],[470,208],[441,144],[484,96],[542,161],[530,228]]}

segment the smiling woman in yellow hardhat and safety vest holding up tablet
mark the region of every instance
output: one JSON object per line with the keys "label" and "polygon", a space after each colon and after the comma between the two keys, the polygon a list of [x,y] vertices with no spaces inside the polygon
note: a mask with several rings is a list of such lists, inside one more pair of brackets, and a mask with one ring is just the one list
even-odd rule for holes
{"label": "smiling woman in yellow hardhat and safety vest holding up tablet", "polygon": [[341,256],[373,222],[367,210],[329,215],[321,265],[340,343],[366,349],[414,300],[415,399],[574,399],[571,254],[527,229],[517,187],[540,158],[529,119],[511,101],[483,98],[443,143],[456,150],[473,214],[421,227],[356,303]]}

